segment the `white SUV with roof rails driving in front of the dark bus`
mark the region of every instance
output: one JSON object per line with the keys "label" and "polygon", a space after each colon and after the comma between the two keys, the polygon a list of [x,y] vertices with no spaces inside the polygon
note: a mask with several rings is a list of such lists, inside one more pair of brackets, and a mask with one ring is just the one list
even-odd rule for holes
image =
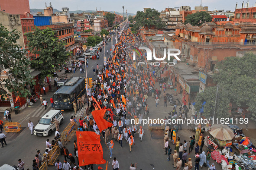
{"label": "white SUV with roof rails driving in front of the dark bus", "polygon": [[42,118],[39,120],[39,123],[36,125],[34,129],[34,135],[52,135],[52,132],[56,128],[55,123],[52,123],[51,121],[54,121],[55,118],[60,122],[60,124],[62,124],[64,120],[62,111],[50,110],[48,113],[42,116]]}

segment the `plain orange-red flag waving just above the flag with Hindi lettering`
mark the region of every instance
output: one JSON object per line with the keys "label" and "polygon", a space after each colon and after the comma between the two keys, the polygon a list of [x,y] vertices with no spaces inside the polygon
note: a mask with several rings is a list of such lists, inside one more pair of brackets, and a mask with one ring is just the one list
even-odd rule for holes
{"label": "plain orange-red flag waving just above the flag with Hindi lettering", "polygon": [[100,132],[104,129],[107,129],[108,127],[111,127],[113,124],[108,122],[107,120],[104,120],[103,117],[105,115],[107,110],[94,110],[91,112]]}

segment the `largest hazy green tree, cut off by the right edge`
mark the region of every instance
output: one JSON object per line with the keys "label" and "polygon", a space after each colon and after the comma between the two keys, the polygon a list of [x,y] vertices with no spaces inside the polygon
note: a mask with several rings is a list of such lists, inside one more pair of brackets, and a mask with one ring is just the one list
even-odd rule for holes
{"label": "largest hazy green tree, cut off by the right edge", "polygon": [[237,106],[249,107],[247,110],[256,117],[256,55],[246,53],[243,57],[227,57],[217,63],[218,72],[214,81],[226,91],[228,98]]}

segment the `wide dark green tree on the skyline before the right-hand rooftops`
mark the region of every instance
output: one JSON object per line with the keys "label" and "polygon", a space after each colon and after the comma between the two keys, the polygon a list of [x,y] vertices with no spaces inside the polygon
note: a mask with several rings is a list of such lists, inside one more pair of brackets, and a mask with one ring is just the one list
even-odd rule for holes
{"label": "wide dark green tree on the skyline before the right-hand rooftops", "polygon": [[186,16],[185,24],[202,25],[204,22],[211,22],[211,15],[205,11],[196,12]]}

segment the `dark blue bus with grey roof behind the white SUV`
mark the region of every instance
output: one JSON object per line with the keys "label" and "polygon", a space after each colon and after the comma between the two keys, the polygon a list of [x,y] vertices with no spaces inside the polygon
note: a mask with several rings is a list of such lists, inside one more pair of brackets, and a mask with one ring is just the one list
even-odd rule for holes
{"label": "dark blue bus with grey roof behind the white SUV", "polygon": [[54,108],[72,110],[73,102],[86,93],[84,77],[72,77],[53,94]]}

